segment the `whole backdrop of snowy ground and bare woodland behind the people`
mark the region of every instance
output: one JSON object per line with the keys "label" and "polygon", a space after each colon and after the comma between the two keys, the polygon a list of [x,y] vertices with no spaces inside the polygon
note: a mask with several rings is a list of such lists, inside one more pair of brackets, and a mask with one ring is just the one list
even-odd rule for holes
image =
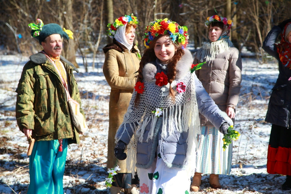
{"label": "whole backdrop of snowy ground and bare woodland behind the people", "polygon": [[290,193],[280,189],[285,176],[266,171],[271,124],[264,119],[278,63],[261,49],[269,30],[291,18],[290,8],[290,0],[0,0],[0,193],[26,193],[29,184],[28,143],[15,120],[22,68],[42,50],[31,38],[29,23],[40,18],[74,33],[69,45],[64,41],[62,55],[79,67],[74,75],[89,130],[68,151],[63,184],[66,194],[91,194],[109,192],[103,186],[110,87],[102,73],[102,47],[112,41],[105,36],[107,24],[133,13],[140,22],[136,40],[143,53],[145,26],[167,17],[188,27],[188,48],[194,54],[207,39],[206,18],[216,12],[233,21],[231,40],[243,57],[235,122],[242,135],[233,142],[231,174],[220,176],[223,188],[210,188],[209,175],[204,175],[198,193]]}

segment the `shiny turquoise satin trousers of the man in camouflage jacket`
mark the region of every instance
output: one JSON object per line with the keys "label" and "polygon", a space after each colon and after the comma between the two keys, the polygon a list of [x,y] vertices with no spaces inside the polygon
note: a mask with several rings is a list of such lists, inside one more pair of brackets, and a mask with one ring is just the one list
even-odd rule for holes
{"label": "shiny turquoise satin trousers of the man in camouflage jacket", "polygon": [[30,184],[27,194],[63,194],[63,176],[68,139],[63,139],[63,151],[58,140],[34,143],[29,156]]}

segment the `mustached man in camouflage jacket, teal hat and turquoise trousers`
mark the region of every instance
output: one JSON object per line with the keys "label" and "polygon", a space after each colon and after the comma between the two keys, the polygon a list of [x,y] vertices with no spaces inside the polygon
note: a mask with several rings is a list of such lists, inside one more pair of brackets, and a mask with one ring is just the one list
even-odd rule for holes
{"label": "mustached man in camouflage jacket, teal hat and turquoise trousers", "polygon": [[[27,193],[61,194],[68,144],[79,144],[63,83],[67,84],[71,98],[81,105],[73,75],[73,70],[78,70],[60,56],[61,38],[68,40],[71,31],[63,31],[58,24],[43,25],[40,19],[37,22],[29,26],[43,51],[30,56],[23,68],[16,89],[16,119],[26,137],[31,135],[36,140],[29,156]],[[81,108],[80,112],[84,116]]]}

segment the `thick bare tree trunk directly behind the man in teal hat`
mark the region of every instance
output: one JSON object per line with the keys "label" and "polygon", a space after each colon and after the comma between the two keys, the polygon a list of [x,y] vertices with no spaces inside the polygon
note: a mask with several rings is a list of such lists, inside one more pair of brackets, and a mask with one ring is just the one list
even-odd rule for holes
{"label": "thick bare tree trunk directly behind the man in teal hat", "polygon": [[[63,5],[65,5],[66,13],[64,14],[65,22],[64,28],[73,31],[73,6],[72,0],[64,0]],[[74,33],[74,32],[73,32]],[[70,39],[68,42],[65,41],[63,48],[64,57],[70,61],[76,68],[79,68],[79,65],[76,62],[76,51],[75,51],[75,42],[74,39]]]}

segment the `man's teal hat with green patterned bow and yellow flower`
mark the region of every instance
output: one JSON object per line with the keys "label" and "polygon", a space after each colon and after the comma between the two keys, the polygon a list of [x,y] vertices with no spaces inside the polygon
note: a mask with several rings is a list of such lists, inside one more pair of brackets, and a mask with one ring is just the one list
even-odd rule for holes
{"label": "man's teal hat with green patterned bow and yellow flower", "polygon": [[37,39],[40,44],[43,40],[45,40],[46,37],[52,34],[59,34],[61,35],[61,38],[65,38],[66,40],[69,40],[69,35],[67,32],[65,32],[69,30],[64,29],[65,31],[63,31],[61,26],[58,24],[51,23],[51,24],[43,25],[42,20],[37,19],[36,24],[30,23],[28,24],[28,26],[31,28],[31,32],[30,32],[31,36]]}

